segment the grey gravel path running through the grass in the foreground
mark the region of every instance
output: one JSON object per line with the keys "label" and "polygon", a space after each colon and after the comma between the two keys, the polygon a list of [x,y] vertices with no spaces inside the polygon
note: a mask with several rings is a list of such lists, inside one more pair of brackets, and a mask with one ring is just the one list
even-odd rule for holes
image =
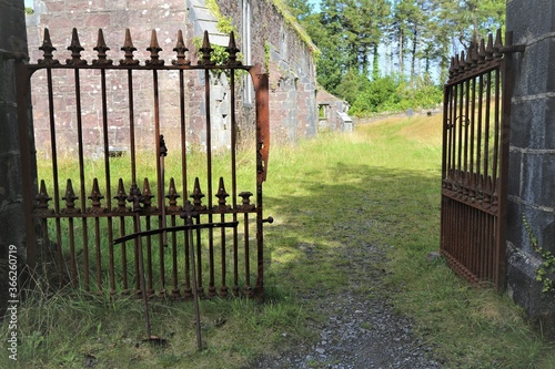
{"label": "grey gravel path running through the grass in the foreground", "polygon": [[[366,244],[343,255],[352,262],[351,280],[345,290],[325,298],[305,297],[314,303],[311,306],[314,306],[315,316],[327,318],[323,324],[307,322],[320,334],[320,340],[261,358],[251,368],[443,368],[433,359],[432,348],[412,335],[411,320],[395,314],[387,303],[387,293],[382,286],[384,270],[376,269],[383,262],[383,252]],[[379,296],[357,293],[359,278],[373,278]]]}

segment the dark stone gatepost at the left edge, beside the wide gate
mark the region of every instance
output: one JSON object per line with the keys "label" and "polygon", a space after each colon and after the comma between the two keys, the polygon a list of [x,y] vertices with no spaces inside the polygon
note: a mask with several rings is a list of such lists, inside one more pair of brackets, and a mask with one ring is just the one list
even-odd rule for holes
{"label": "dark stone gatepost at the left edge, beside the wide gate", "polygon": [[23,0],[0,0],[0,317],[8,298],[8,254],[17,249],[21,274],[26,255],[21,155],[14,59],[27,54]]}

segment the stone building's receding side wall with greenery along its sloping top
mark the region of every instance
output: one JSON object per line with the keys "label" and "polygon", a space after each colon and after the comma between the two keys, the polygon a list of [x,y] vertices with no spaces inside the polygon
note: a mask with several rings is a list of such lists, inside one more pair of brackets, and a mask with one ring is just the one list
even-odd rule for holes
{"label": "stone building's receding side wall with greenery along its sloping top", "polygon": [[[240,34],[245,2],[251,11],[251,64],[270,74],[270,125],[274,142],[313,136],[317,130],[315,47],[303,40],[295,24],[282,16],[273,1],[219,0]],[[248,48],[239,38],[240,49]]]}

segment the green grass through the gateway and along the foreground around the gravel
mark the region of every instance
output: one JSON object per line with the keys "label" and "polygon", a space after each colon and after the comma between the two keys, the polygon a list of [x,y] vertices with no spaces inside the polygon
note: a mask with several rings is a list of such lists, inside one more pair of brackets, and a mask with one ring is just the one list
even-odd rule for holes
{"label": "green grass through the gateway and along the foreground around the gravel", "polygon": [[[445,263],[425,259],[440,245],[441,119],[415,116],[272,146],[264,213],[264,304],[201,303],[206,348],[195,350],[193,305],[153,301],[153,334],[142,342],[140,300],[38,289],[20,308],[16,368],[244,368],[319,337],[314,304],[356,279],[362,296],[387,295],[446,368],[555,367],[553,342],[538,337],[506,297],[477,289]],[[351,274],[379,245],[387,260]],[[353,257],[342,257],[349,249]],[[382,273],[385,269],[385,274]],[[385,275],[384,283],[381,278]],[[364,275],[363,275],[364,276]],[[9,334],[6,324],[0,339]],[[7,351],[0,350],[0,367]]]}

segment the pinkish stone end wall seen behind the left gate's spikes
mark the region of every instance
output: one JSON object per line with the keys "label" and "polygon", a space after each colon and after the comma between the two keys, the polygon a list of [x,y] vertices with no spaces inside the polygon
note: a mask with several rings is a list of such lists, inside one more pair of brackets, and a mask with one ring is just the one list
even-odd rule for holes
{"label": "pinkish stone end wall seen behind the left gate's spikes", "polygon": [[[144,64],[150,52],[151,32],[157,30],[158,41],[162,48],[161,58],[165,63],[175,59],[172,49],[175,47],[178,31],[185,31],[185,40],[190,39],[184,27],[186,9],[179,0],[46,0],[36,1],[36,14],[28,17],[28,38],[31,61],[42,59],[39,47],[42,43],[44,29],[50,30],[52,44],[58,49],[54,58],[65,63],[71,51],[67,47],[71,42],[72,29],[78,28],[79,40],[84,48],[82,59],[89,64],[97,59],[92,49],[97,44],[99,28],[102,28],[105,42],[110,48],[108,58],[114,64],[123,59],[120,50],[124,42],[125,29],[130,29],[135,59]],[[191,47],[191,44],[189,44]],[[33,75],[33,111],[34,127],[39,154],[50,155],[49,110],[46,91],[46,72],[39,71]],[[59,124],[59,140],[57,148],[69,155],[74,154],[77,147],[77,102],[74,99],[72,73],[54,71],[54,111]],[[85,153],[94,156],[102,151],[102,120],[101,120],[101,89],[100,76],[97,71],[82,71],[81,106],[83,140]],[[175,91],[175,73],[161,73],[159,80],[161,99],[161,130],[167,137],[179,137],[179,104],[174,101],[179,96]],[[138,145],[143,148],[155,146],[153,135],[154,103],[153,82],[151,73],[135,73],[133,75],[135,90],[135,130]],[[107,73],[108,89],[108,119],[110,130],[110,145],[112,150],[129,150],[129,110],[128,110],[128,80],[122,71]],[[189,95],[188,95],[189,96]],[[191,94],[194,98],[194,94]],[[171,143],[170,143],[171,144]]]}

